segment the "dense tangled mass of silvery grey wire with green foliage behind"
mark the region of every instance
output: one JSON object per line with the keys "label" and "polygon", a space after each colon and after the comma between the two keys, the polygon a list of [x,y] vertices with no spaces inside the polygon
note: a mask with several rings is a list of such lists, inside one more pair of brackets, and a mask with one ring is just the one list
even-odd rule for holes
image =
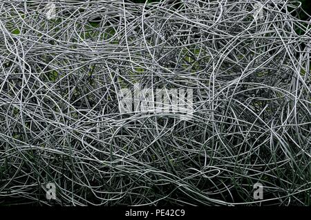
{"label": "dense tangled mass of silvery grey wire with green foliage behind", "polygon": [[[1,1],[0,201],[50,204],[55,183],[61,205],[310,205],[299,6]],[[136,83],[194,89],[193,120],[120,114]]]}

